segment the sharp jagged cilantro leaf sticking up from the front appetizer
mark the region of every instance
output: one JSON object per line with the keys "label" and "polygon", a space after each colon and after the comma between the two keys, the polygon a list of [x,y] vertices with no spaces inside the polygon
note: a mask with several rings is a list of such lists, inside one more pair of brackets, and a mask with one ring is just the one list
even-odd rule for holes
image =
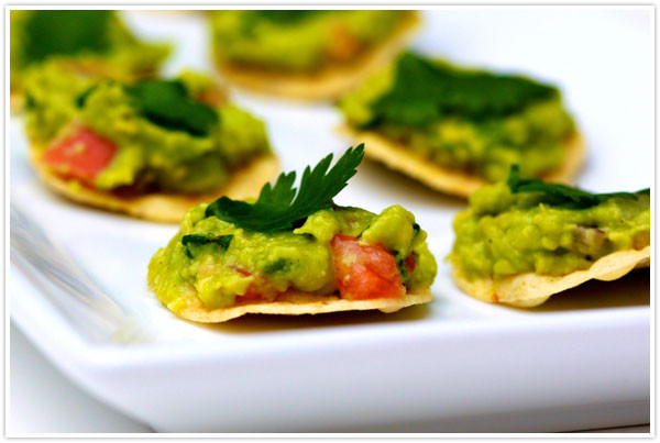
{"label": "sharp jagged cilantro leaf sticking up from the front appetizer", "polygon": [[217,217],[239,228],[255,232],[274,232],[294,229],[321,209],[330,208],[332,198],[356,173],[364,156],[364,145],[349,148],[328,170],[332,154],[311,169],[305,168],[300,188],[293,187],[296,173],[280,174],[271,187],[264,185],[255,203],[221,197],[207,207],[206,217]]}

